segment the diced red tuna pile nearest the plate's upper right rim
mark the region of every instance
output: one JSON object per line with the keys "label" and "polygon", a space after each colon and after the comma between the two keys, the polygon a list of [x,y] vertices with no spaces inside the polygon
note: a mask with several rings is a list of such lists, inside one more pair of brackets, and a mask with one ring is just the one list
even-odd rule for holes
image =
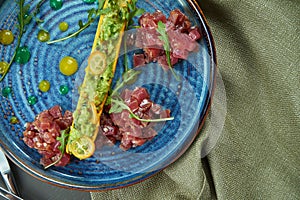
{"label": "diced red tuna pile nearest the plate's upper right rim", "polygon": [[162,12],[145,13],[140,19],[141,28],[137,29],[135,45],[144,50],[144,55],[134,56],[134,66],[142,66],[150,62],[158,62],[165,70],[169,69],[164,50],[164,42],[160,40],[157,24],[161,21],[166,25],[166,32],[170,44],[171,66],[179,59],[187,59],[192,51],[198,50],[197,40],[201,38],[197,27],[192,27],[186,15],[179,9],[170,12],[166,18]]}

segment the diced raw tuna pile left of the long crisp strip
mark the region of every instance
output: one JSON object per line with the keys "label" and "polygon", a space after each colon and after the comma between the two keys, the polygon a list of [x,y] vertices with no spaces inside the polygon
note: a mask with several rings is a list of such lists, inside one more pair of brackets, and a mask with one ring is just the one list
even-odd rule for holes
{"label": "diced raw tuna pile left of the long crisp strip", "polygon": [[[23,132],[23,141],[30,148],[35,148],[42,155],[40,163],[50,165],[59,159],[61,152],[58,149],[60,142],[57,137],[60,131],[72,124],[72,112],[66,111],[62,115],[60,106],[53,106],[38,114],[33,122],[26,124]],[[70,162],[70,155],[64,153],[62,159],[55,166],[65,166]]]}

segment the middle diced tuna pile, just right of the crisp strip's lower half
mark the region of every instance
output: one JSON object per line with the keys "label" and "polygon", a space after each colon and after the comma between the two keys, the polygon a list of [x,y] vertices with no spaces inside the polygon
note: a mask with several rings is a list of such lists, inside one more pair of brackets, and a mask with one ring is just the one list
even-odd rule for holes
{"label": "middle diced tuna pile, just right of the crisp strip's lower half", "polygon": [[[146,88],[125,89],[121,93],[121,98],[131,111],[141,119],[170,115],[170,110],[163,110],[160,105],[154,104],[150,100]],[[100,132],[102,136],[97,141],[98,146],[107,144],[107,140],[112,143],[120,141],[120,148],[128,150],[143,145],[157,135],[157,132],[152,128],[155,123],[135,119],[130,116],[128,110],[111,114],[108,114],[108,111],[109,109],[106,107],[101,115]]]}

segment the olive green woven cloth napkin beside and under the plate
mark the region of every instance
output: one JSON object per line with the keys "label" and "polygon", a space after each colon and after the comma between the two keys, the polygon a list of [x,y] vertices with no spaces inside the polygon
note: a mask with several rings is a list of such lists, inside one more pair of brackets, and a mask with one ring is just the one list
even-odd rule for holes
{"label": "olive green woven cloth napkin beside and under the plate", "polygon": [[92,199],[300,199],[300,2],[198,2],[227,95],[215,148],[199,156],[204,126],[165,170]]}

